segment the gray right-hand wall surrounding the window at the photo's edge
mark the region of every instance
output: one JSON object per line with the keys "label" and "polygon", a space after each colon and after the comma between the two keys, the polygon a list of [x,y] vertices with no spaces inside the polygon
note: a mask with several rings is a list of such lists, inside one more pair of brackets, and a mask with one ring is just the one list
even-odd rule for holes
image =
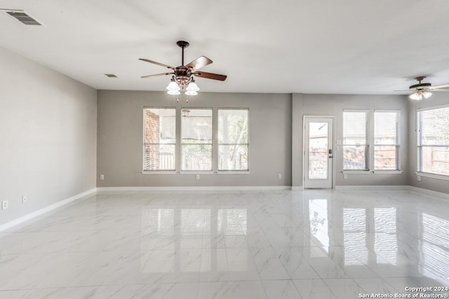
{"label": "gray right-hand wall surrounding the window at the photo's edge", "polygon": [[449,193],[449,181],[442,179],[433,179],[425,176],[421,176],[421,181],[417,180],[417,134],[416,134],[416,109],[430,108],[441,105],[448,105],[449,97],[445,92],[434,92],[433,95],[427,99],[420,102],[414,102],[409,100],[408,105],[408,117],[409,123],[409,170],[408,170],[408,184],[410,186],[415,186],[418,188],[424,188],[429,190],[434,190],[443,193]]}

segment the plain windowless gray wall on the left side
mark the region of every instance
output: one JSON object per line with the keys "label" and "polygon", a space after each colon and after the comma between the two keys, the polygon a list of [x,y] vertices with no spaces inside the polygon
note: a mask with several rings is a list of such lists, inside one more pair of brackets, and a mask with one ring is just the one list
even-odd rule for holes
{"label": "plain windowless gray wall on the left side", "polygon": [[95,188],[97,95],[4,48],[0,65],[1,225]]}

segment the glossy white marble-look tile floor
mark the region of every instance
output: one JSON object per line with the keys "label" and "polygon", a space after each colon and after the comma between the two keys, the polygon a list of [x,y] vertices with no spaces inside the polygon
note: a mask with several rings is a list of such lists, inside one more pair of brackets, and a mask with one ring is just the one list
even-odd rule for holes
{"label": "glossy white marble-look tile floor", "polygon": [[0,232],[0,253],[0,298],[410,293],[449,286],[449,200],[382,189],[99,193]]}

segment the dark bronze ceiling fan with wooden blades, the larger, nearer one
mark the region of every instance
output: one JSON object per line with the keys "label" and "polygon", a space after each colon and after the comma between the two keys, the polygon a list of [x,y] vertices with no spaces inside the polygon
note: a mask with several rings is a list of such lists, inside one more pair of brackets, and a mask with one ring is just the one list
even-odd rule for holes
{"label": "dark bronze ceiling fan with wooden blades, the larger, nearer one", "polygon": [[160,65],[161,67],[166,67],[168,69],[173,70],[173,72],[169,73],[147,75],[142,76],[140,78],[151,78],[157,76],[173,75],[170,84],[168,84],[167,86],[169,95],[179,95],[180,94],[179,90],[181,89],[186,89],[186,95],[197,95],[196,92],[199,90],[199,88],[196,85],[193,76],[214,79],[218,81],[226,80],[227,76],[225,75],[206,73],[206,71],[198,71],[199,69],[206,67],[206,65],[212,63],[212,60],[210,60],[206,56],[201,56],[196,60],[184,65],[184,49],[189,46],[189,43],[187,43],[187,41],[177,41],[176,44],[177,46],[182,48],[182,60],[181,60],[182,65],[180,65],[179,67],[170,67],[167,64],[162,64],[160,62],[155,62],[153,60],[147,60],[145,58],[139,58],[139,60],[149,62],[152,64],[157,64]]}

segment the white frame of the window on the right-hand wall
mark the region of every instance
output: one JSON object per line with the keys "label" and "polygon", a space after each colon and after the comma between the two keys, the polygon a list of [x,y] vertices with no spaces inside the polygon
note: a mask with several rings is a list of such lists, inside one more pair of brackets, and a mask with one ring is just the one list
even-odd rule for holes
{"label": "white frame of the window on the right-hand wall", "polygon": [[[427,176],[432,179],[443,179],[449,181],[449,175],[446,174],[436,174],[433,172],[422,172],[422,148],[427,145],[422,145],[422,118],[421,112],[423,111],[431,111],[431,110],[439,110],[439,109],[449,109],[449,105],[440,105],[440,106],[432,106],[426,108],[418,108],[415,113],[415,130],[416,130],[416,167],[417,172],[415,173],[417,176]],[[433,147],[443,147],[449,148],[449,144],[447,145],[433,145]]]}

